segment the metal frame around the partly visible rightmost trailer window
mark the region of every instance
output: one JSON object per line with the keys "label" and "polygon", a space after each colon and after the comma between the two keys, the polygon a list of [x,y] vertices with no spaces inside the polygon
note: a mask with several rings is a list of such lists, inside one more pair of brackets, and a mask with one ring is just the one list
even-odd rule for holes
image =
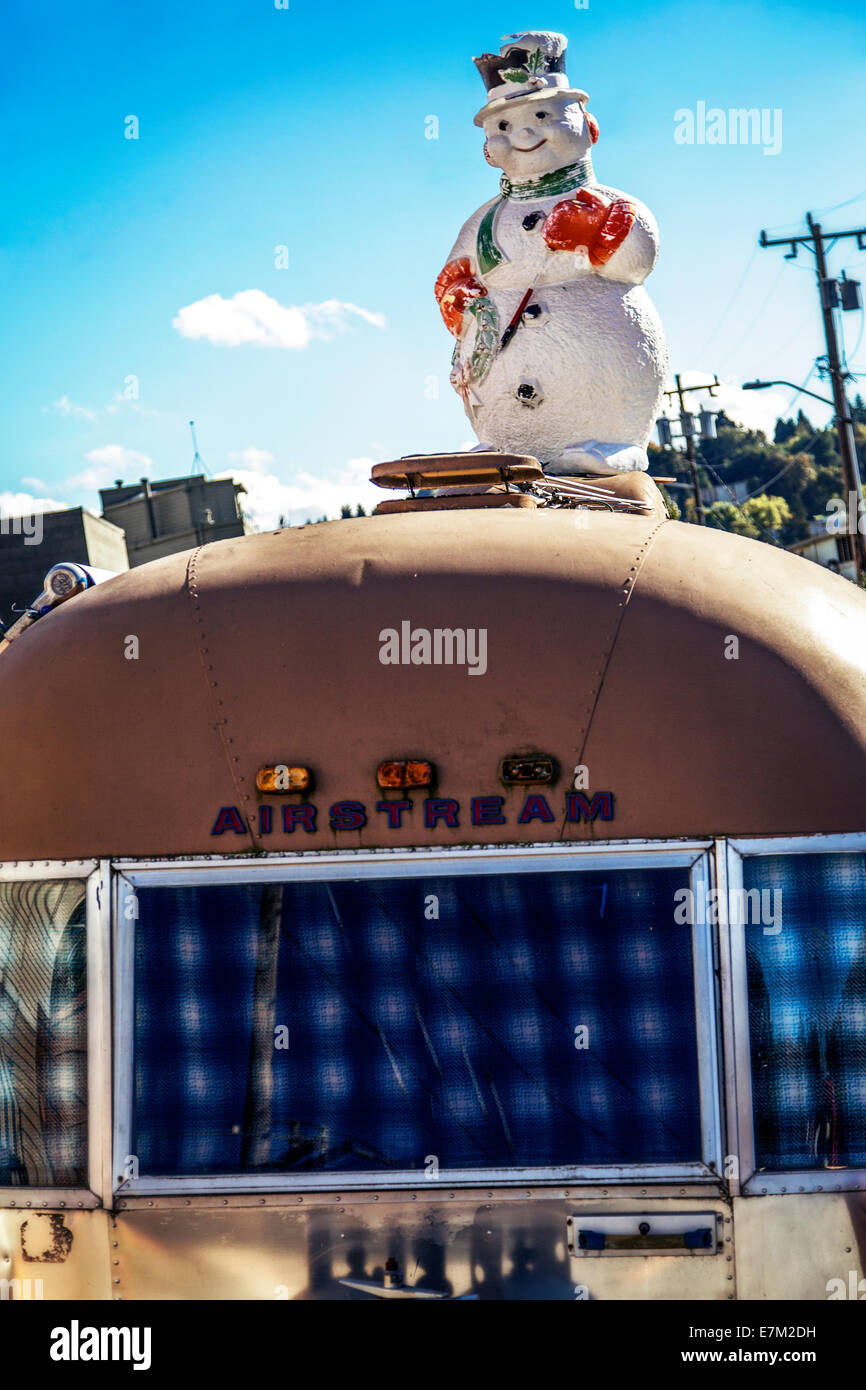
{"label": "metal frame around the partly visible rightmost trailer window", "polygon": [[[735,837],[716,842],[716,877],[730,903],[731,890],[744,887],[742,860],[766,855],[866,853],[866,834]],[[866,1188],[866,1169],[760,1170],[755,1158],[755,1106],[745,923],[731,923],[726,910],[720,923],[721,997],[726,1037],[726,1091],[728,1154],[738,1155],[740,1172],[731,1188],[744,1197],[785,1193],[847,1193]]]}

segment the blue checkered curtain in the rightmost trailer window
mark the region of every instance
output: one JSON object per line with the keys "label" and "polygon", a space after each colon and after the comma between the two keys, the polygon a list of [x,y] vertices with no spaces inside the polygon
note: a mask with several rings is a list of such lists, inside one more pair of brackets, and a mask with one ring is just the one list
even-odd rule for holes
{"label": "blue checkered curtain in the rightmost trailer window", "polygon": [[749,856],[742,867],[765,908],[745,927],[758,1166],[863,1168],[866,855]]}

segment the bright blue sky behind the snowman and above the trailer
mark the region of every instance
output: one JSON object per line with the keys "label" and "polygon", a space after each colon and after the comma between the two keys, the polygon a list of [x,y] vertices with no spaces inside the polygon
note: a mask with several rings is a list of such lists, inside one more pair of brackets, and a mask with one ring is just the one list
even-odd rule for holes
{"label": "bright blue sky behind the snowman and above the trailer", "polygon": [[[735,413],[787,406],[790,391],[733,386],[801,382],[823,350],[812,259],[756,250],[760,228],[796,231],[806,208],[841,203],[827,227],[866,224],[853,0],[6,0],[0,17],[7,513],[29,498],[96,507],[115,477],[188,471],[190,418],[260,524],[366,498],[370,461],[468,442],[432,282],[496,192],[471,56],[520,28],[567,35],[601,125],[596,172],[660,225],[648,289],[671,366],[719,371]],[[781,152],[678,145],[676,113],[699,101],[780,110]],[[866,268],[853,242],[834,253],[844,265]],[[302,310],[270,310],[263,332],[282,346],[175,327],[232,341],[231,302],[249,291],[265,317],[267,300]],[[866,370],[860,321],[842,327]]]}

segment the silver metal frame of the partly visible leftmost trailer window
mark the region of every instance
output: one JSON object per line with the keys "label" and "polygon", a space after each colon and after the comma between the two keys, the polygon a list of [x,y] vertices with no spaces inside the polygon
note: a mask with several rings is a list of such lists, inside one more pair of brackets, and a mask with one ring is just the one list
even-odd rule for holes
{"label": "silver metal frame of the partly visible leftmost trailer window", "polygon": [[111,941],[110,863],[107,859],[35,859],[0,863],[0,883],[85,880],[86,1034],[88,1034],[88,1184],[81,1187],[0,1186],[0,1209],[86,1208],[111,1198]]}

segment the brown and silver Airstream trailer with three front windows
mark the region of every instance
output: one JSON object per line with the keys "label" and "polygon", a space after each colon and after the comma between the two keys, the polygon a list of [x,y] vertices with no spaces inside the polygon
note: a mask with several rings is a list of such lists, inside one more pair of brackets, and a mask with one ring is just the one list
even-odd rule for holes
{"label": "brown and silver Airstream trailer with three front windows", "polygon": [[866,596],[645,477],[392,474],[0,651],[4,1289],[826,1300]]}

